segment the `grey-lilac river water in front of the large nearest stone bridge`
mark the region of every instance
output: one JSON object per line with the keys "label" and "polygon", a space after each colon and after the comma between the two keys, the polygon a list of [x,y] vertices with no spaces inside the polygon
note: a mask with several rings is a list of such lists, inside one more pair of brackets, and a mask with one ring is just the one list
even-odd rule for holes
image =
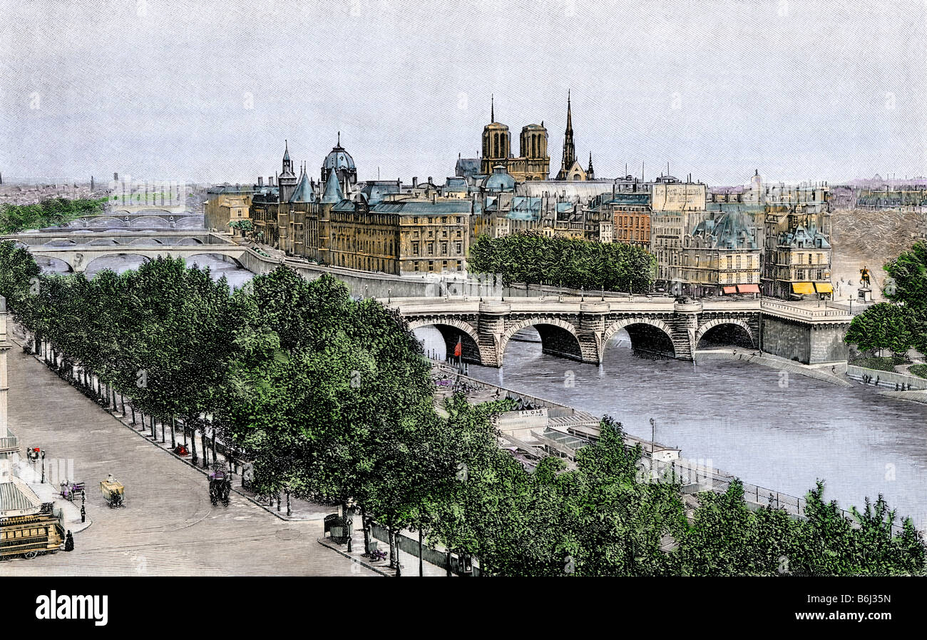
{"label": "grey-lilac river water in front of the large nearest stone bridge", "polygon": [[[443,357],[437,329],[415,333]],[[609,341],[600,366],[545,355],[540,342],[511,340],[501,369],[469,365],[468,373],[613,416],[647,441],[654,418],[656,442],[781,493],[804,496],[821,479],[825,498],[846,509],[883,493],[899,516],[927,530],[927,405],[762,365],[642,358],[624,331]]]}

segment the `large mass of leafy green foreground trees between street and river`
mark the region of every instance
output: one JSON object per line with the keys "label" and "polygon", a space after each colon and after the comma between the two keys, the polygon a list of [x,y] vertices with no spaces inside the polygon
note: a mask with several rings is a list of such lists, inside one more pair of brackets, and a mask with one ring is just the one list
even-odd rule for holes
{"label": "large mass of leafy green foreground trees between street and river", "polygon": [[[532,472],[500,449],[505,401],[463,396],[439,416],[422,347],[398,314],[324,276],[281,267],[231,290],[183,261],[116,275],[43,275],[0,244],[0,294],[59,373],[107,403],[217,435],[253,461],[253,489],[340,504],[395,533],[478,558],[487,575],[895,574],[924,545],[883,501],[845,518],[808,495],[806,519],[751,511],[734,483],[700,495],[641,480],[619,423],[577,466]],[[118,398],[116,396],[119,396]],[[390,549],[392,551],[392,548]]]}

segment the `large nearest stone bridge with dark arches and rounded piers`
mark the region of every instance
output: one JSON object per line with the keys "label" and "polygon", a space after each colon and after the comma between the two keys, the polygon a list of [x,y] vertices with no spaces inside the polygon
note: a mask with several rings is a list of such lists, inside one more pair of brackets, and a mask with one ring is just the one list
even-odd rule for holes
{"label": "large nearest stone bridge with dark arches and rounded piers", "polygon": [[[541,350],[598,365],[605,344],[624,329],[635,352],[693,360],[699,349],[725,345],[766,352],[805,364],[845,360],[842,338],[850,316],[761,300],[675,301],[645,297],[587,301],[562,298],[392,299],[410,328],[434,326],[448,353],[461,342],[464,360],[502,366],[514,335],[534,327]],[[781,308],[780,308],[781,307]]]}

